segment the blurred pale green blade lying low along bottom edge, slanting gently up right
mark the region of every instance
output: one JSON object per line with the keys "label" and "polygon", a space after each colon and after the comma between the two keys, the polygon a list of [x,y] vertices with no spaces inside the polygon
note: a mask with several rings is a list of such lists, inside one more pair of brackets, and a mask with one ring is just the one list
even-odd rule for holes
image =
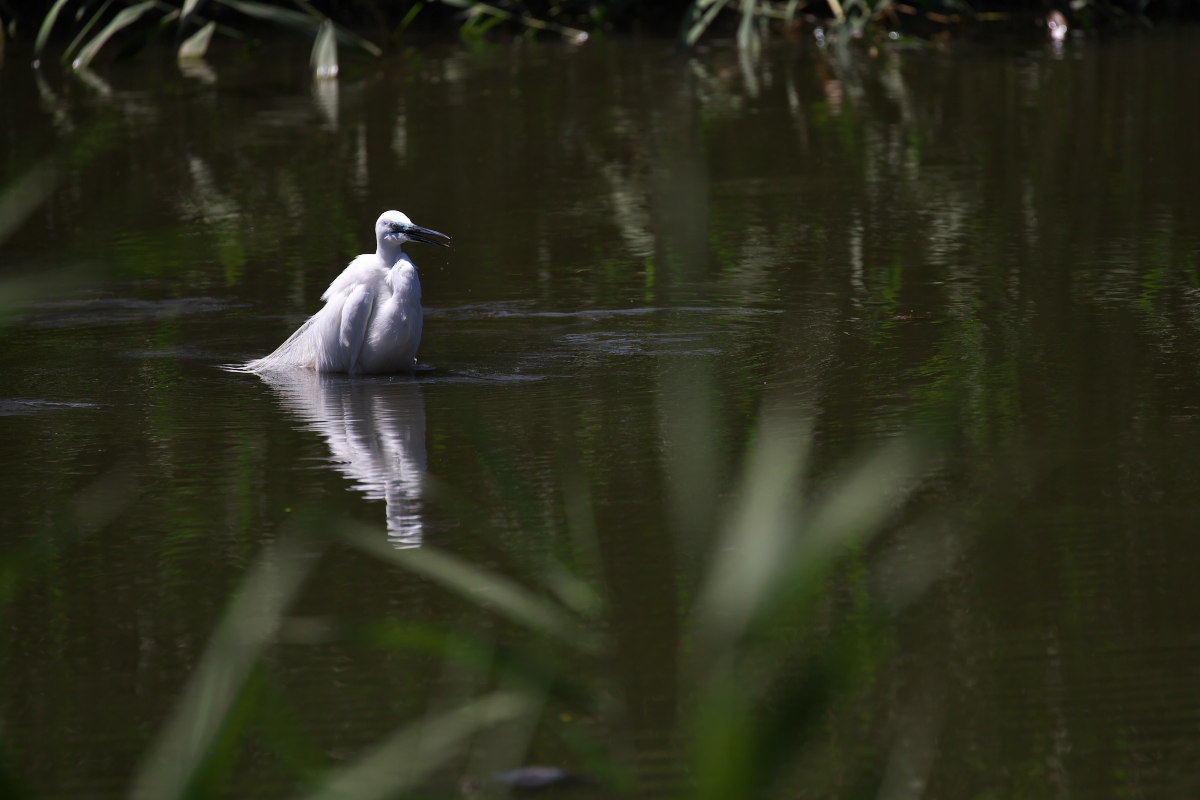
{"label": "blurred pale green blade lying low along bottom edge, slanting gently up right", "polygon": [[410,792],[433,770],[461,754],[476,732],[520,720],[541,705],[524,692],[499,691],[408,726],[336,772],[304,800],[376,800]]}

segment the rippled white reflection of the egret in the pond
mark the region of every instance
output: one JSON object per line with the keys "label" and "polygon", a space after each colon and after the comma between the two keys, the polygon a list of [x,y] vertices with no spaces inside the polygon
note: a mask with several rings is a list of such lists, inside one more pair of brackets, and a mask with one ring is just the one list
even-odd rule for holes
{"label": "rippled white reflection of the egret in the pond", "polygon": [[426,470],[425,397],[413,380],[288,369],[259,375],[325,438],[330,461],[367,499],[388,506],[388,537],[419,547]]}

